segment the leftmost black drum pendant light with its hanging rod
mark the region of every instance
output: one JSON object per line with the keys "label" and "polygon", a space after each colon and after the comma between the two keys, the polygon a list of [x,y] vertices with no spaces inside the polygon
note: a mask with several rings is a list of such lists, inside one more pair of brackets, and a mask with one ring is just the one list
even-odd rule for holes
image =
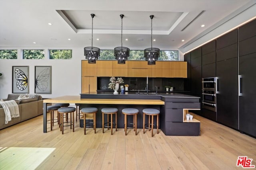
{"label": "leftmost black drum pendant light with its hanging rod", "polygon": [[[93,33],[93,18],[95,14],[91,14],[92,16],[92,33]],[[95,64],[96,60],[99,59],[100,49],[97,47],[84,47],[84,55],[85,59],[88,59],[88,63]]]}

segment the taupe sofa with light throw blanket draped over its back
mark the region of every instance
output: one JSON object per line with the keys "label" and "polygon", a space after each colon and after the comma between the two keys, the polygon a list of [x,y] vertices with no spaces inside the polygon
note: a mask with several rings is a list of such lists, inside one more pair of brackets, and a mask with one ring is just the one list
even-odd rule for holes
{"label": "taupe sofa with light throw blanket draped over its back", "polygon": [[37,95],[36,98],[18,100],[18,97],[20,95],[21,94],[8,94],[8,98],[4,99],[4,101],[15,100],[19,106],[19,111],[20,111],[20,117],[12,118],[12,120],[9,121],[7,124],[5,124],[4,108],[2,108],[2,105],[0,105],[0,129],[4,129],[11,125],[20,123],[22,121],[25,121],[43,114],[42,96]]}

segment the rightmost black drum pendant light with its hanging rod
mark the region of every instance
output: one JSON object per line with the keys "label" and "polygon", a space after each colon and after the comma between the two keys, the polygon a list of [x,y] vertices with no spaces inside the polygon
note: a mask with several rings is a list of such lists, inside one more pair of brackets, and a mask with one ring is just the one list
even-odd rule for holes
{"label": "rightmost black drum pendant light with its hanging rod", "polygon": [[152,19],[154,18],[153,15],[150,16],[151,18],[151,48],[144,49],[144,57],[145,60],[148,61],[148,65],[156,64],[158,57],[160,55],[160,49],[152,48]]}

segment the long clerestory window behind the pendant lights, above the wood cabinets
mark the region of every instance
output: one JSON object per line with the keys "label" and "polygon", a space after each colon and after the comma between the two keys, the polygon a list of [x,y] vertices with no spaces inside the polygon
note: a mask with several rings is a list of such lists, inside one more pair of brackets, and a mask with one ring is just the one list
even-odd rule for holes
{"label": "long clerestory window behind the pendant lights, above the wood cabinets", "polygon": [[[115,60],[114,50],[100,50],[100,60]],[[128,60],[145,60],[144,50],[130,50]],[[178,61],[178,51],[160,51],[159,61]]]}

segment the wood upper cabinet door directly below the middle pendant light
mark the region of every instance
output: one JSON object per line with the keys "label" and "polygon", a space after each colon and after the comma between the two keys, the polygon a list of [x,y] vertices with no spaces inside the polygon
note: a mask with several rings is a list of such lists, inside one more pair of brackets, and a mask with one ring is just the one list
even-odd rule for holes
{"label": "wood upper cabinet door directly below the middle pendant light", "polygon": [[128,77],[128,64],[118,64],[117,61],[112,61],[112,76]]}

